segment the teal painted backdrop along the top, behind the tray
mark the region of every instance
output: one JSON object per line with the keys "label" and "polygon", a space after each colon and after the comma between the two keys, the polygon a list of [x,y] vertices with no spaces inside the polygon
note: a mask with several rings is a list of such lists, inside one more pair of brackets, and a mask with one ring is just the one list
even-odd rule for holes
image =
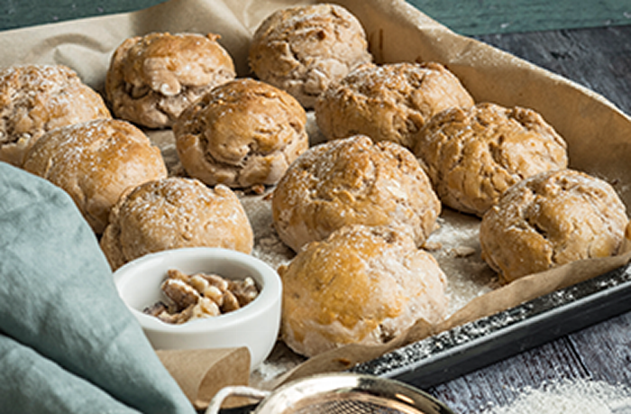
{"label": "teal painted backdrop along the top, behind the tray", "polygon": [[[631,0],[407,0],[467,35],[631,24]],[[0,30],[140,10],[159,0],[0,0]]]}

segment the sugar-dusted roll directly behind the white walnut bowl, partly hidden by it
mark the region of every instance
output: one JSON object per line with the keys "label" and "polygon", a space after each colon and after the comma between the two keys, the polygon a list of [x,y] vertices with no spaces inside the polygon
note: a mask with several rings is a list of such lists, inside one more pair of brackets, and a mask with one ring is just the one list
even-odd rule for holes
{"label": "sugar-dusted roll directly behind the white walnut bowl, partly hidden by it", "polygon": [[224,247],[251,253],[252,228],[231,189],[171,177],[127,191],[112,209],[101,248],[113,270],[147,253]]}

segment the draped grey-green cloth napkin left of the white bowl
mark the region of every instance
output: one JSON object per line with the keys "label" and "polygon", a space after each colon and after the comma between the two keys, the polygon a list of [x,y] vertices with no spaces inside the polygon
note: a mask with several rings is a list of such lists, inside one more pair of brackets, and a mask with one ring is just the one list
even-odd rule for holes
{"label": "draped grey-green cloth napkin left of the white bowl", "polygon": [[3,412],[195,413],[119,298],[72,199],[4,162],[0,332]]}

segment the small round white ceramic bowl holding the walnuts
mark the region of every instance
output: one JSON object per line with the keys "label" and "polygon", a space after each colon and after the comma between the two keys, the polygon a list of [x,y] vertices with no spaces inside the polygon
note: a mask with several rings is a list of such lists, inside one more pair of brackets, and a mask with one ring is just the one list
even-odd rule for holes
{"label": "small round white ceramic bowl holding the walnuts", "polygon": [[[169,269],[188,274],[215,272],[233,279],[250,276],[261,292],[251,303],[233,312],[172,325],[142,312],[163,299],[160,283]],[[247,346],[251,369],[254,369],[268,357],[277,340],[282,293],[280,278],[268,264],[251,255],[210,247],[151,253],[115,271],[114,282],[155,349]]]}

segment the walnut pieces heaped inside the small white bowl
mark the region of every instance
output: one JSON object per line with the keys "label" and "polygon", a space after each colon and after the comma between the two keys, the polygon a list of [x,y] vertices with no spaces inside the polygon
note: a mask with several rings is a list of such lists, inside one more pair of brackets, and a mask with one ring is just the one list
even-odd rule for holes
{"label": "walnut pieces heaped inside the small white bowl", "polygon": [[167,299],[145,308],[144,312],[169,324],[232,312],[249,304],[260,292],[249,276],[230,280],[217,274],[188,275],[176,269],[167,271],[160,289]]}

